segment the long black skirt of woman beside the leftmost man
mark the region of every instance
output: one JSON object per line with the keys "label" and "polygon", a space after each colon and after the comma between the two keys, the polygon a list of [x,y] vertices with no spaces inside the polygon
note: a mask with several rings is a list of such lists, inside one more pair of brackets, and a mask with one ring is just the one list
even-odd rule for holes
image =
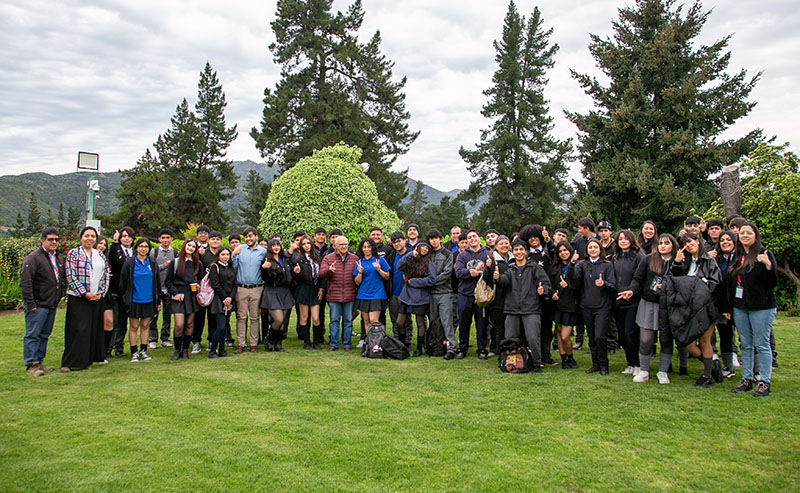
{"label": "long black skirt of woman beside the leftmost man", "polygon": [[61,366],[89,368],[105,359],[103,344],[103,300],[67,296],[67,321],[64,325],[64,355]]}

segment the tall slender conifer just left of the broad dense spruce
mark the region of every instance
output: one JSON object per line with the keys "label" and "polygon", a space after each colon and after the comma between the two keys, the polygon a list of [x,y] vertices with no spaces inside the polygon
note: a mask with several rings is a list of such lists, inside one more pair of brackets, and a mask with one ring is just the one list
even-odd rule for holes
{"label": "tall slender conifer just left of the broad dense spruce", "polygon": [[491,124],[475,150],[459,151],[476,179],[466,196],[475,200],[489,192],[477,224],[511,232],[520,224],[546,221],[564,199],[571,143],[551,136],[544,98],[545,73],[558,51],[548,43],[552,33],[544,29],[538,7],[526,22],[509,3],[502,38],[494,42],[494,85],[483,92],[489,101],[481,114]]}

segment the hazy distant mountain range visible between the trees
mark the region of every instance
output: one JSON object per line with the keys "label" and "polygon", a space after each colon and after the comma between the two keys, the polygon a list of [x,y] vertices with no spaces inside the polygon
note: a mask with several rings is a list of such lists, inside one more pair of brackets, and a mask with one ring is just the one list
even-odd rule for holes
{"label": "hazy distant mountain range visible between the trees", "polygon": [[[237,188],[244,191],[245,180],[250,170],[255,170],[267,183],[272,183],[277,170],[264,163],[253,161],[234,161],[233,170],[238,177]],[[86,205],[86,181],[91,175],[88,173],[66,173],[63,175],[49,175],[47,173],[25,173],[22,175],[0,176],[0,226],[14,226],[17,211],[22,212],[27,218],[28,199],[31,190],[39,202],[42,218],[47,216],[48,207],[53,211],[53,216],[58,215],[58,206],[63,202],[64,209],[69,206],[83,210]],[[111,214],[119,207],[116,191],[122,174],[118,171],[101,173],[99,175],[100,192],[95,199],[95,212],[97,214]],[[417,182],[408,179],[408,194],[416,187]],[[424,195],[429,204],[438,204],[442,197],[455,197],[461,190],[442,192],[428,185],[424,185]],[[241,193],[236,193],[225,201],[224,207],[231,208],[241,203]],[[480,204],[478,204],[479,206]],[[467,213],[474,212],[477,207],[467,206]]]}

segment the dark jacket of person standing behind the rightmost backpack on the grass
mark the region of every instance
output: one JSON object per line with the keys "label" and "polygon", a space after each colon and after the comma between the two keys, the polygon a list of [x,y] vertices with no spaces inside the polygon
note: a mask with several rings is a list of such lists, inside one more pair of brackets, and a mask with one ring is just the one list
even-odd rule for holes
{"label": "dark jacket of person standing behind the rightmost backpack on the grass", "polygon": [[550,296],[553,292],[550,278],[539,264],[531,261],[522,267],[511,264],[498,280],[498,284],[506,290],[503,312],[507,315],[541,314],[542,302],[537,291],[539,283],[544,288],[541,296]]}

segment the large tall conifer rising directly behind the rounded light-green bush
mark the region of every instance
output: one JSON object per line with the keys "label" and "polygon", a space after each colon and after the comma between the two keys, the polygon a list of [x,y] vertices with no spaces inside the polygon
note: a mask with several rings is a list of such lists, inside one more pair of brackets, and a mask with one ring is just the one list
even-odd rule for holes
{"label": "large tall conifer rising directly behind the rounded light-green bush", "polygon": [[278,0],[269,49],[282,79],[264,91],[264,116],[250,135],[270,166],[283,171],[315,149],[345,142],[363,150],[378,196],[397,208],[406,172],[391,171],[419,132],[408,128],[403,87],[380,52],[380,33],[359,43],[361,0],[333,14],[333,0]]}

